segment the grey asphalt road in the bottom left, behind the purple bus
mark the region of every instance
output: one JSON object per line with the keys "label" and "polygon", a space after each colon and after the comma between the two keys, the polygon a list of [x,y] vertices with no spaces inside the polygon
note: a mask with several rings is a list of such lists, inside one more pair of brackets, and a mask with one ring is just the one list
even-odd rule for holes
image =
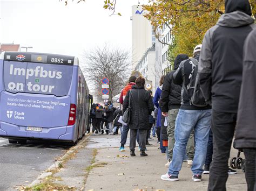
{"label": "grey asphalt road in the bottom left, behind the purple bus", "polygon": [[28,185],[68,149],[69,146],[38,141],[9,144],[8,139],[0,138],[0,190]]}

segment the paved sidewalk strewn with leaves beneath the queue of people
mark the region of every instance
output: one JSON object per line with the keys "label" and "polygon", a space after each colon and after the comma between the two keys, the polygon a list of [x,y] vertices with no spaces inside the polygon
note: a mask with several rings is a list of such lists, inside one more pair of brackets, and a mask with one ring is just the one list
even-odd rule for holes
{"label": "paved sidewalk strewn with leaves beneath the queue of people", "polygon": [[[62,185],[75,187],[76,190],[207,190],[208,176],[203,181],[193,182],[192,172],[183,162],[179,181],[160,180],[167,172],[166,155],[160,153],[157,139],[150,140],[153,146],[147,146],[147,157],[140,157],[138,147],[136,157],[130,157],[129,139],[125,152],[119,152],[120,135],[90,136],[86,146],[78,150],[76,157],[67,161],[62,170],[54,176]],[[96,152],[97,149],[97,152]],[[237,155],[232,148],[231,157]],[[242,156],[243,157],[243,156]],[[227,190],[247,190],[245,175],[238,170],[230,175]]]}

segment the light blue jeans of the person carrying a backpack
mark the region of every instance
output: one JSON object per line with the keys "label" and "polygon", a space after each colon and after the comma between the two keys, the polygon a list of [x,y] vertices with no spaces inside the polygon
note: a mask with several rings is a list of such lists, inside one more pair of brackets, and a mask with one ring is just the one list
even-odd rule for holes
{"label": "light blue jeans of the person carrying a backpack", "polygon": [[203,173],[209,131],[211,128],[211,111],[212,110],[179,110],[174,132],[176,142],[173,148],[172,163],[168,171],[169,174],[178,176],[192,129],[194,129],[196,149],[191,171],[193,174],[197,175]]}

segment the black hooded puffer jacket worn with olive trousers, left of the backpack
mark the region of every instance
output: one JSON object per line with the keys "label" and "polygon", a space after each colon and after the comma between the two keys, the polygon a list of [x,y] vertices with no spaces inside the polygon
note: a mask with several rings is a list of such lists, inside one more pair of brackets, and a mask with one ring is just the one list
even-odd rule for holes
{"label": "black hooded puffer jacket worn with olive trousers, left of the backpack", "polygon": [[164,78],[161,99],[159,101],[159,107],[162,112],[168,112],[171,109],[180,108],[181,85],[174,84],[172,76],[174,72],[179,68],[180,62],[187,59],[188,55],[179,54],[174,60],[174,70],[169,72]]}

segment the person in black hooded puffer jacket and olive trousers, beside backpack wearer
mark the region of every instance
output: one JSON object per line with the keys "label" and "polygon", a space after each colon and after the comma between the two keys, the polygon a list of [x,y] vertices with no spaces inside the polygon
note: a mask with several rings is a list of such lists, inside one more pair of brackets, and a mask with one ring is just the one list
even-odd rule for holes
{"label": "person in black hooded puffer jacket and olive trousers, beside backpack wearer", "polygon": [[[176,72],[176,70],[179,68],[180,62],[187,59],[188,59],[187,54],[177,55],[176,59],[174,60],[174,70],[172,70],[165,76],[161,99],[159,101],[162,114],[164,116],[168,116],[167,130],[165,129],[166,128],[165,126],[162,126],[164,129],[164,131],[162,132],[162,134],[164,134],[163,136],[168,137],[167,138],[168,160],[167,160],[167,163],[165,164],[166,167],[169,167],[172,161],[172,151],[175,143],[175,138],[174,138],[175,121],[176,121],[176,117],[179,112],[180,103],[181,103],[181,97],[180,97],[181,85],[174,84],[172,77],[174,72]],[[167,133],[167,135],[165,135],[165,133]],[[191,136],[187,142],[187,156],[188,156],[188,160],[193,160],[194,158],[194,131],[191,132]],[[191,167],[191,165],[192,164],[189,163],[188,167]]]}

